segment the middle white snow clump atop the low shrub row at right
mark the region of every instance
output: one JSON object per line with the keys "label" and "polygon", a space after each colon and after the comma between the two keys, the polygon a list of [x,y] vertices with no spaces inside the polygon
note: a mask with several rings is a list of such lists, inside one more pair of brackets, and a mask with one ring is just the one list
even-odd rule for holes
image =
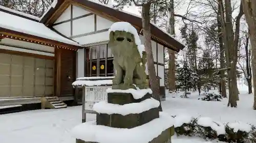
{"label": "middle white snow clump atop the low shrub row at right", "polygon": [[225,134],[225,126],[222,123],[212,121],[209,117],[201,117],[198,119],[197,124],[203,127],[211,127],[212,130],[217,132],[217,135]]}

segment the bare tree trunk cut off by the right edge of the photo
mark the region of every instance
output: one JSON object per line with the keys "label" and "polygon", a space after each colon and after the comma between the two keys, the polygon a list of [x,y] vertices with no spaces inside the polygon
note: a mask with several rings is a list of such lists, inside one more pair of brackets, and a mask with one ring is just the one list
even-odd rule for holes
{"label": "bare tree trunk cut off by the right edge of the photo", "polygon": [[253,109],[256,109],[256,1],[241,0],[243,5],[246,22],[249,27],[249,38],[251,43],[251,54],[252,54],[252,74],[253,74],[253,94],[254,103]]}

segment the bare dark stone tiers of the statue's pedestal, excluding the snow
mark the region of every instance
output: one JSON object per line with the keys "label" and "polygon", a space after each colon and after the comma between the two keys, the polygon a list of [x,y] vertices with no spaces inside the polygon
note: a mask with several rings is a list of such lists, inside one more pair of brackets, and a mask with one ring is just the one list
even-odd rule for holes
{"label": "bare dark stone tiers of the statue's pedestal, excluding the snow", "polygon": [[[148,93],[140,99],[134,99],[131,93],[108,93],[108,103],[119,104],[119,105],[139,103],[151,97],[152,95]],[[150,110],[147,110],[141,113],[129,114],[126,116],[122,116],[120,114],[108,115],[106,113],[97,113],[96,123],[97,125],[104,125],[104,126],[113,127],[113,128],[131,129],[134,127],[144,125],[156,118],[159,118],[159,109],[152,108]],[[172,130],[173,130],[173,133],[172,133]],[[174,134],[174,127],[168,128],[164,130],[159,136],[157,136],[152,141],[150,141],[149,143],[165,143],[165,142],[169,143],[171,142],[170,138],[173,134]]]}

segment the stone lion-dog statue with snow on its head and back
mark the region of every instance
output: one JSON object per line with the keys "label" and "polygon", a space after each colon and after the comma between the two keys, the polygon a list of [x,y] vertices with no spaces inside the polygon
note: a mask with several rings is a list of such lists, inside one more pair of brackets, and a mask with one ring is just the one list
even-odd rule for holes
{"label": "stone lion-dog statue with snow on its head and back", "polygon": [[146,52],[135,27],[128,22],[116,22],[110,27],[109,33],[108,46],[114,55],[116,70],[112,89],[147,89]]}

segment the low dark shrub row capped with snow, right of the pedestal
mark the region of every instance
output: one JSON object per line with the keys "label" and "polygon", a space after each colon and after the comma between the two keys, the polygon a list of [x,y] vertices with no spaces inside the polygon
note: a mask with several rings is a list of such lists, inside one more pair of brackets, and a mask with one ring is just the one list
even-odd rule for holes
{"label": "low dark shrub row capped with snow, right of the pedestal", "polygon": [[193,118],[179,115],[174,117],[177,136],[199,136],[205,140],[219,139],[225,142],[255,143],[256,127],[249,124],[235,122],[222,124],[207,117]]}

